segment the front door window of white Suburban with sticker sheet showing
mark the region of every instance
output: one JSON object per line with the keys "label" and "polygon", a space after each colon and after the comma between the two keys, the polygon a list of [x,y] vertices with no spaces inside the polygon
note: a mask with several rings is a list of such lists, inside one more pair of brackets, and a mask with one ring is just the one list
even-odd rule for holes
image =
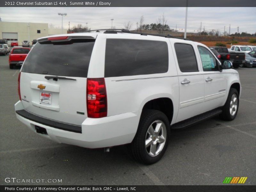
{"label": "front door window of white Suburban with sticker sheet showing", "polygon": [[218,71],[218,64],[215,57],[205,47],[197,46],[200,53],[204,71]]}

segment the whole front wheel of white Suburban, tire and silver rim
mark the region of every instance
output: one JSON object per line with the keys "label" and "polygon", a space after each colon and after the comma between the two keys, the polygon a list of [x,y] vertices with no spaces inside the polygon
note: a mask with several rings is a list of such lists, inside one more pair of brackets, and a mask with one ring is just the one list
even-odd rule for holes
{"label": "whole front wheel of white Suburban, tire and silver rim", "polygon": [[232,121],[236,118],[236,114],[239,106],[239,94],[236,89],[230,88],[228,98],[225,105],[222,108],[220,117],[226,121]]}

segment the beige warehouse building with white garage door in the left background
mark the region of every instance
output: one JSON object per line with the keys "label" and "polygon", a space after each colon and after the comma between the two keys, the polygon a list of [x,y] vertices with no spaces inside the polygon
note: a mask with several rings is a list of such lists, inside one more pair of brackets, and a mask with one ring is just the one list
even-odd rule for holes
{"label": "beige warehouse building with white garage door in the left background", "polygon": [[[63,34],[67,29],[63,29]],[[21,23],[21,22],[0,22],[0,39],[6,39],[10,45],[12,41],[29,41],[49,35],[61,34],[61,28],[48,28],[48,23]]]}

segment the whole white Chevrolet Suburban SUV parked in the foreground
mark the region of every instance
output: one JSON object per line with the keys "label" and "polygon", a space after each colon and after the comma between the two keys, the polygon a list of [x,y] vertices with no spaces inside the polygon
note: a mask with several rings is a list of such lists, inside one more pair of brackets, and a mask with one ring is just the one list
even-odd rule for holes
{"label": "whole white Chevrolet Suburban SUV parked in the foreground", "polygon": [[59,143],[129,144],[157,162],[170,128],[236,117],[241,86],[230,61],[171,36],[104,31],[38,39],[19,74],[17,118]]}

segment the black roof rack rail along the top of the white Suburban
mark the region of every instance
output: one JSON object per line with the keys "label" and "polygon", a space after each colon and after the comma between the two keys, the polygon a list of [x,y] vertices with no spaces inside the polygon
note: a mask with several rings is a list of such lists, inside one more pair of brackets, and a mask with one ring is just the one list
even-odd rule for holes
{"label": "black roof rack rail along the top of the white Suburban", "polygon": [[91,31],[96,31],[96,32],[104,31],[103,33],[112,33],[112,34],[117,34],[119,32],[119,33],[140,34],[140,35],[143,35],[143,36],[151,35],[151,36],[160,36],[160,37],[166,37],[166,38],[175,38],[175,39],[183,39],[183,40],[191,41],[190,39],[187,39],[187,38],[174,37],[174,36],[171,36],[169,34],[138,33],[138,32],[131,32],[128,29],[95,29],[95,30],[89,30],[89,31],[81,31],[79,33],[85,33],[85,32],[91,32]]}

